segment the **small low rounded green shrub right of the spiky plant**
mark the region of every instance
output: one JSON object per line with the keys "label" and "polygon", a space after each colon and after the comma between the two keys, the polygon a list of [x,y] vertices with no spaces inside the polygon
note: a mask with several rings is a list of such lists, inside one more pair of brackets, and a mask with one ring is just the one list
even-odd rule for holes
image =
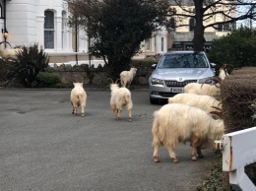
{"label": "small low rounded green shrub right of the spiky plant", "polygon": [[55,73],[39,72],[35,78],[38,87],[53,87],[61,83],[59,76]]}

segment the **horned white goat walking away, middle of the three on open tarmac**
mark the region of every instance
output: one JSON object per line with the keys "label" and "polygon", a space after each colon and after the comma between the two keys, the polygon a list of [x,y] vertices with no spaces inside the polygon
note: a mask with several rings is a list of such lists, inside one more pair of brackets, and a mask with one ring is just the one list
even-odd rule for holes
{"label": "horned white goat walking away, middle of the three on open tarmac", "polygon": [[122,106],[126,105],[126,108],[128,110],[128,117],[129,121],[132,121],[132,96],[131,92],[123,87],[119,88],[117,82],[119,79],[113,82],[112,79],[110,84],[110,90],[111,90],[111,97],[110,97],[110,106],[115,114],[116,119],[120,118],[120,114],[122,111]]}

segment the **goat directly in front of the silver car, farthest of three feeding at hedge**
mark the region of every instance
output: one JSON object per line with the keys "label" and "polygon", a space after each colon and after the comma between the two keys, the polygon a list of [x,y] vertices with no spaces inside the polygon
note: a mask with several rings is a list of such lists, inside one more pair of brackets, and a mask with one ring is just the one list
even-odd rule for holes
{"label": "goat directly in front of the silver car, farthest of three feeding at hedge", "polygon": [[221,100],[221,82],[222,79],[219,77],[209,77],[205,82],[209,80],[217,81],[216,85],[209,84],[198,84],[198,83],[189,83],[184,87],[184,93],[190,93],[195,95],[206,95],[214,96],[217,100]]}

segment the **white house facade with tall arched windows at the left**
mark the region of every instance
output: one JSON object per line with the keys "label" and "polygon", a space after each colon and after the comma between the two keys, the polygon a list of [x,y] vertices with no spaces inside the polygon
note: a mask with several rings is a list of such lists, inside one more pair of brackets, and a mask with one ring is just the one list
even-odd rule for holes
{"label": "white house facade with tall arched windows at the left", "polygon": [[65,0],[0,0],[1,45],[14,48],[38,43],[52,63],[87,59],[87,38],[67,25]]}

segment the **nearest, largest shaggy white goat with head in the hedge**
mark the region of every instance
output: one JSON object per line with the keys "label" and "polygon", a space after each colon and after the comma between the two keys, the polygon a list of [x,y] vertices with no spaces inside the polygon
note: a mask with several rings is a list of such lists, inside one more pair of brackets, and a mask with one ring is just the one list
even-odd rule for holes
{"label": "nearest, largest shaggy white goat with head in the hedge", "polygon": [[152,127],[154,159],[160,161],[159,148],[165,146],[173,162],[178,162],[174,149],[180,143],[190,142],[192,160],[203,157],[203,147],[214,148],[215,140],[224,135],[224,121],[213,119],[206,111],[182,103],[163,105],[154,112]]}

